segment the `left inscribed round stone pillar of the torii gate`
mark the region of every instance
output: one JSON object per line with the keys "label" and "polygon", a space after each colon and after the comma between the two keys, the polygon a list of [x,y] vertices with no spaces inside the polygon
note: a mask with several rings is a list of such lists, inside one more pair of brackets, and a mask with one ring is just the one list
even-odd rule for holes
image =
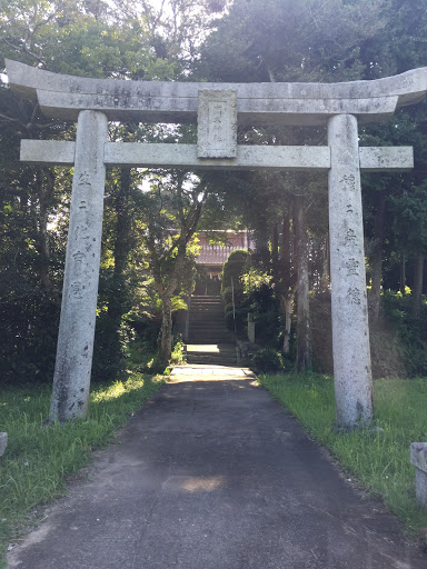
{"label": "left inscribed round stone pillar of the torii gate", "polygon": [[88,413],[101,257],[108,119],[85,110],[77,123],[75,174],[50,421]]}

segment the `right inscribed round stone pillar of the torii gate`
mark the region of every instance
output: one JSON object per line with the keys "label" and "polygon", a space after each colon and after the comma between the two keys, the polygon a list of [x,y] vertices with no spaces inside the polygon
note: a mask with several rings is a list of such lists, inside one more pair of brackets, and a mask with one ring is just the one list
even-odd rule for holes
{"label": "right inscribed round stone pillar of the torii gate", "polygon": [[328,122],[332,352],[337,427],[374,420],[357,118]]}

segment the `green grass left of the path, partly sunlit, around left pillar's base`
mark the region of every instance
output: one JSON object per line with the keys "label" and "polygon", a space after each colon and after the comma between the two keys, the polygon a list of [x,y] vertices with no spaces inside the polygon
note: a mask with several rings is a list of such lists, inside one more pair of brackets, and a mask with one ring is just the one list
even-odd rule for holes
{"label": "green grass left of the path, partly sunlit, around left pillar's base", "polygon": [[87,421],[47,426],[50,386],[0,390],[0,431],[9,437],[0,459],[0,567],[7,543],[29,521],[31,508],[61,496],[67,477],[88,462],[92,450],[111,440],[162,383],[161,378],[132,373],[107,387],[96,385]]}

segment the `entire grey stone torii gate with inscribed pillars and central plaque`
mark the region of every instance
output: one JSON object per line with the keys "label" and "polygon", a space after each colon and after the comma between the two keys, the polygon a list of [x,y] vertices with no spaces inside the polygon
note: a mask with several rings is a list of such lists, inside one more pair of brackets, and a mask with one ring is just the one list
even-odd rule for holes
{"label": "entire grey stone torii gate with inscribed pillars and central plaque", "polygon": [[[337,425],[374,418],[360,170],[413,168],[410,147],[359,148],[358,122],[421,101],[427,68],[347,83],[182,83],[85,79],[7,61],[11,89],[44,116],[77,120],[76,142],[22,140],[26,162],[73,166],[50,419],[86,418],[92,363],[106,167],[329,171]],[[107,140],[108,121],[198,122],[197,144]],[[237,124],[327,126],[326,147],[238,146]]]}

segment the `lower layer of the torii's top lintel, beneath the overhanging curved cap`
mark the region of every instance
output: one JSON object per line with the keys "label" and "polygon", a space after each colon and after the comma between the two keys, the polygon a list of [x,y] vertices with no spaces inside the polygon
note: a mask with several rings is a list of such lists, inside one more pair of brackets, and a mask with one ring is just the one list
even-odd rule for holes
{"label": "lower layer of the torii's top lintel, beneath the overhanging curved cap", "polygon": [[[237,86],[230,83],[229,87]],[[162,96],[147,96],[141,99],[128,96],[68,94],[39,89],[37,94],[42,112],[47,117],[62,120],[76,120],[78,112],[82,109],[105,112],[109,120],[183,123],[197,120],[198,100],[196,97],[171,97],[168,99]],[[398,97],[326,99],[325,101],[239,98],[238,123],[322,126],[326,124],[329,117],[340,112],[357,114],[363,123],[385,122],[393,117],[397,102]]]}

